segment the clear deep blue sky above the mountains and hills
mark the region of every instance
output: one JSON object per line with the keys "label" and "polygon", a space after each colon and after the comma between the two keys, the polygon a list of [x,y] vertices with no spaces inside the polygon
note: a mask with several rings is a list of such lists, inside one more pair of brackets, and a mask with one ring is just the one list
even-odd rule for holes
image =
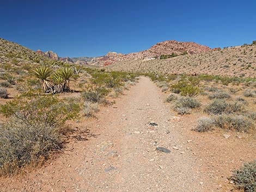
{"label": "clear deep blue sky above the mountains and hills", "polygon": [[60,57],[130,53],[165,40],[211,48],[256,40],[256,0],[1,0],[0,37]]}

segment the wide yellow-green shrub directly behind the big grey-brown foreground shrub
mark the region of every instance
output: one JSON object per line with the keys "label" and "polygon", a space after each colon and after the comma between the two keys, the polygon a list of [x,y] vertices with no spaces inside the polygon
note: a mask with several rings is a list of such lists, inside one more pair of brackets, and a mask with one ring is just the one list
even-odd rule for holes
{"label": "wide yellow-green shrub directly behind the big grey-brown foreground shrub", "polygon": [[0,112],[14,117],[27,125],[62,126],[66,120],[74,119],[80,110],[79,104],[58,100],[53,96],[34,96],[30,100],[17,98],[4,104]]}

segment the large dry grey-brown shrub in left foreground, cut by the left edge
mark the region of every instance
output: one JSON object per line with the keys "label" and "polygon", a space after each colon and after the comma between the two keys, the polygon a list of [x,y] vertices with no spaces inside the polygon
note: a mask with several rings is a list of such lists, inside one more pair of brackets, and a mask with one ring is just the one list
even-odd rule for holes
{"label": "large dry grey-brown shrub in left foreground, cut by the left edge", "polygon": [[23,121],[6,123],[0,129],[1,174],[12,174],[17,168],[36,164],[59,148],[62,148],[62,139],[54,126],[27,125]]}

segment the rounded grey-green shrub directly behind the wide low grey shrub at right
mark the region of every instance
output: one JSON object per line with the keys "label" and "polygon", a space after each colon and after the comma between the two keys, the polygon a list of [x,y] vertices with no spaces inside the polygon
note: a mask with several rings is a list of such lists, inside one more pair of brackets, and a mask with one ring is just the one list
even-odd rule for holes
{"label": "rounded grey-green shrub directly behind the wide low grey shrub at right", "polygon": [[224,100],[214,100],[214,102],[210,103],[205,107],[204,111],[208,114],[222,114],[227,108],[228,103]]}

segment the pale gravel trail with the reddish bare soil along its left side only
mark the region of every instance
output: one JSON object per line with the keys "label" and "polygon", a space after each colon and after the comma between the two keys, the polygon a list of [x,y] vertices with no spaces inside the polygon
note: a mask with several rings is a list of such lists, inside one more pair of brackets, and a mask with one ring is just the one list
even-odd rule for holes
{"label": "pale gravel trail with the reddish bare soil along its left side only", "polygon": [[2,179],[0,191],[217,191],[173,116],[156,85],[142,77],[97,120],[77,123],[94,137],[70,143],[40,169]]}

